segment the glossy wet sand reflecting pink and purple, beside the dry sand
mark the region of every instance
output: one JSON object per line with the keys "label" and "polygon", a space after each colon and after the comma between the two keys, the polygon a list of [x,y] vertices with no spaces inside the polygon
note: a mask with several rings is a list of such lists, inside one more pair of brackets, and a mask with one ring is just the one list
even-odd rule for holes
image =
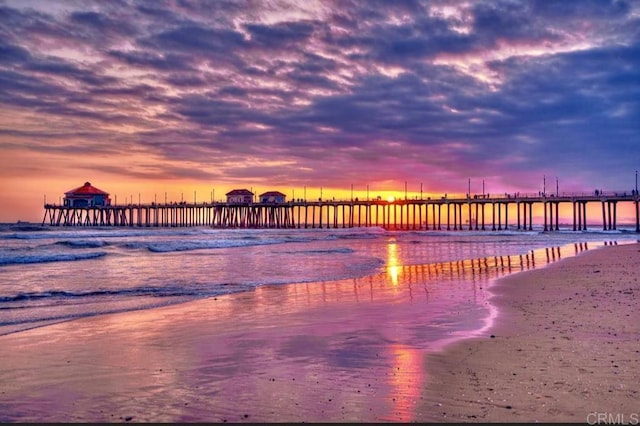
{"label": "glossy wet sand reflecting pink and purple, beside the dry sand", "polygon": [[0,421],[411,421],[424,354],[444,324],[477,327],[499,270],[397,266],[0,336]]}

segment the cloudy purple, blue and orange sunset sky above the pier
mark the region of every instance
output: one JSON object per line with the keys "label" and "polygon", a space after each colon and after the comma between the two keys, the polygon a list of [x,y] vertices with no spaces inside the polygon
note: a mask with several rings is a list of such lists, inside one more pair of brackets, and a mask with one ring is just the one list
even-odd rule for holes
{"label": "cloudy purple, blue and orange sunset sky above the pier", "polygon": [[630,192],[639,1],[0,0],[0,222],[112,200]]}

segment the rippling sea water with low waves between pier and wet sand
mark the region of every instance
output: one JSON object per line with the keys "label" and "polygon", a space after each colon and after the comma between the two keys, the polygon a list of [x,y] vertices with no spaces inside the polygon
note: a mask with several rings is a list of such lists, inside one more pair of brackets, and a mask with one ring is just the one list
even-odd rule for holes
{"label": "rippling sea water with low waves between pier and wet sand", "polygon": [[[544,264],[549,255],[545,261],[543,249],[551,248],[555,260],[556,249],[560,258],[559,249],[572,244],[583,250],[635,242],[634,231],[632,227],[542,232],[4,224],[0,225],[0,335],[87,316],[250,292],[264,285],[303,285],[385,271],[393,275],[397,268],[415,265],[464,261],[473,265],[481,259],[522,255],[531,255],[532,263],[541,256],[537,263]],[[562,257],[566,255],[563,252]],[[434,279],[451,279],[445,275]],[[457,278],[468,279],[464,274]],[[460,285],[444,287],[466,291]]]}

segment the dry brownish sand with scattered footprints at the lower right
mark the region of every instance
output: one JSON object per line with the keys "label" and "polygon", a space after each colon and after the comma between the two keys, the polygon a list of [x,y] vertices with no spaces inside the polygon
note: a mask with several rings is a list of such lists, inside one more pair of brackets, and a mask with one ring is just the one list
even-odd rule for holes
{"label": "dry brownish sand with scattered footprints at the lower right", "polygon": [[636,243],[498,279],[491,337],[427,355],[418,419],[636,424],[638,265]]}

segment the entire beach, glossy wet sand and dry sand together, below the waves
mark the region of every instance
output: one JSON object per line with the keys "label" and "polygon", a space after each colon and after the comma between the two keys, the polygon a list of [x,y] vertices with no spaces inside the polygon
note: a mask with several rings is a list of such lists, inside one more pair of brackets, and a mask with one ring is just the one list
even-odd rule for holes
{"label": "entire beach, glossy wet sand and dry sand together, below the waves", "polygon": [[7,334],[0,421],[632,421],[639,260],[398,266]]}

